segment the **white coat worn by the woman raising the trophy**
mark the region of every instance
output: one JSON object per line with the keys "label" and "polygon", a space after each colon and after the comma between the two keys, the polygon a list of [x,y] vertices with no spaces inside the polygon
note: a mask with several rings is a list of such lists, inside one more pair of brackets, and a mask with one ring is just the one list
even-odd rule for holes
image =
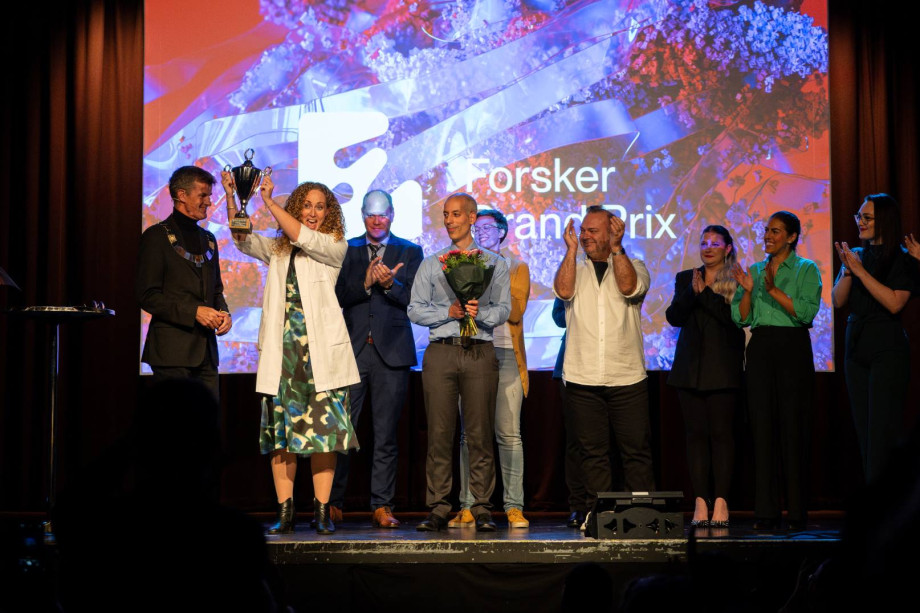
{"label": "white coat worn by the woman raising the trophy", "polygon": [[[256,391],[276,396],[281,382],[281,356],[284,339],[285,281],[290,252],[277,254],[274,240],[250,234],[244,241],[234,240],[237,249],[268,264],[259,325],[259,370]],[[358,383],[358,365],[345,327],[342,309],[335,297],[335,282],[345,259],[348,242],[301,225],[300,235],[291,245],[301,248],[294,258],[294,271],[303,302],[304,319],[310,343],[310,364],[317,392]]]}

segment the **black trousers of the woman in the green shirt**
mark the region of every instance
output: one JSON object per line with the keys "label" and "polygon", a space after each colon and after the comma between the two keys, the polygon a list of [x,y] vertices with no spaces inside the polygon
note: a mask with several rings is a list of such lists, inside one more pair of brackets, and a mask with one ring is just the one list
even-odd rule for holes
{"label": "black trousers of the woman in the green shirt", "polygon": [[789,521],[803,523],[815,384],[808,329],[754,328],[746,357],[754,438],[754,516],[778,520],[784,489]]}

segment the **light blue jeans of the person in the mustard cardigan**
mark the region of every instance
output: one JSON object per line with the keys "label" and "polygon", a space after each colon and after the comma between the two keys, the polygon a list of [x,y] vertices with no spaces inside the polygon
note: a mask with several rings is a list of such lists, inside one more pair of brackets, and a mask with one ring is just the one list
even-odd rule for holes
{"label": "light blue jeans of the person in the mustard cardigan", "polygon": [[[524,445],[521,443],[521,403],[524,387],[513,349],[495,348],[498,358],[498,394],[495,398],[495,440],[502,470],[505,510],[524,508]],[[460,507],[469,509],[470,455],[460,423]]]}

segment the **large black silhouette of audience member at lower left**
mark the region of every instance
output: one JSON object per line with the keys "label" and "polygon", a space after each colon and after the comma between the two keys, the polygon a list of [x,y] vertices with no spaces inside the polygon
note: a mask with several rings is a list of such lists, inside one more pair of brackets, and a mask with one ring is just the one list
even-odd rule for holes
{"label": "large black silhouette of audience member at lower left", "polygon": [[278,611],[262,525],[218,504],[219,407],[194,380],[152,386],[135,425],[55,514],[65,611]]}

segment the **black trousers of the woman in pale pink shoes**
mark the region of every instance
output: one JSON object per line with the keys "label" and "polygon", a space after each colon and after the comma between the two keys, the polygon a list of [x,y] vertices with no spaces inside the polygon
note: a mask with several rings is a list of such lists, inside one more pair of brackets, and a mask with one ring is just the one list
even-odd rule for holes
{"label": "black trousers of the woman in pale pink shoes", "polygon": [[695,496],[728,499],[735,463],[732,422],[737,390],[677,392],[687,431],[687,466]]}

